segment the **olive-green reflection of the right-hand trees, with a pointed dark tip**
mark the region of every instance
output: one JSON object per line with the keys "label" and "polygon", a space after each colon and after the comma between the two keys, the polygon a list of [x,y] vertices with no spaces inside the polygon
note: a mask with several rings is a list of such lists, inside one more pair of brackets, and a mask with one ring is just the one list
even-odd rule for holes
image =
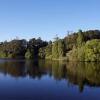
{"label": "olive-green reflection of the right-hand trees, with a pointed dark tip", "polygon": [[69,82],[79,86],[80,92],[85,85],[100,86],[100,64],[99,63],[69,63],[67,65],[67,76]]}

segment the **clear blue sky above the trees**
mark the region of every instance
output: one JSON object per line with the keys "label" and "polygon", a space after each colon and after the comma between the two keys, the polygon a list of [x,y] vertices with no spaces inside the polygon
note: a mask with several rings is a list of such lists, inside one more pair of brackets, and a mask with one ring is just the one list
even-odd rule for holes
{"label": "clear blue sky above the trees", "polygon": [[0,0],[0,41],[100,29],[100,0]]}

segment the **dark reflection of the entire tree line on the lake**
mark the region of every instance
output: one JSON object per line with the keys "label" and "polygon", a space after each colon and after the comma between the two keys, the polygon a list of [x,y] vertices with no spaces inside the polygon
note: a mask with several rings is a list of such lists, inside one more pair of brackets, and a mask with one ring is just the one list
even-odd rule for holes
{"label": "dark reflection of the entire tree line on the lake", "polygon": [[[79,91],[84,86],[100,86],[100,64],[99,63],[77,63],[58,61],[1,61],[0,73],[10,75],[14,78],[29,76],[32,79],[41,79],[48,75],[54,80],[66,80],[71,85],[77,85]],[[66,83],[67,85],[67,83]]]}

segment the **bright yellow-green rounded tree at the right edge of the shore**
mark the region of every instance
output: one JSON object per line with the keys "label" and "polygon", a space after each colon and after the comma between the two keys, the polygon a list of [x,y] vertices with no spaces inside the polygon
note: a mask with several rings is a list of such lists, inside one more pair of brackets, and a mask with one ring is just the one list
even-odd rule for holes
{"label": "bright yellow-green rounded tree at the right edge of the shore", "polygon": [[85,45],[85,61],[100,61],[100,40],[88,41]]}

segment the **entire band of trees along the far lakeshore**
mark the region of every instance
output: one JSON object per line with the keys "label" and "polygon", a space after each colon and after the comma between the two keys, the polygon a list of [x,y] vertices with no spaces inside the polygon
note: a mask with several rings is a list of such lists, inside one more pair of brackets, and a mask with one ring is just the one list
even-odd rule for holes
{"label": "entire band of trees along the far lakeshore", "polygon": [[49,42],[41,38],[1,42],[0,58],[100,61],[100,31],[79,30]]}

